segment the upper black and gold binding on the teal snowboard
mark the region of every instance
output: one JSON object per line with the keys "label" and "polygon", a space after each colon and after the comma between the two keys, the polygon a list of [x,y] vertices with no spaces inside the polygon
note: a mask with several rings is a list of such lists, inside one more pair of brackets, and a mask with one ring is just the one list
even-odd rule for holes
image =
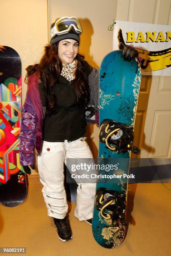
{"label": "upper black and gold binding on the teal snowboard", "polygon": [[133,127],[118,123],[111,119],[104,119],[99,129],[99,139],[102,143],[117,153],[130,150],[133,154],[140,154],[140,149],[133,146]]}

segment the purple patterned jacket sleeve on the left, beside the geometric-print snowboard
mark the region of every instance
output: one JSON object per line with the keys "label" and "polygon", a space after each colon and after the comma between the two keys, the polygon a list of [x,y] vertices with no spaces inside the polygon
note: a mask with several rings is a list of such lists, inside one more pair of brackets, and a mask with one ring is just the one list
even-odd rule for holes
{"label": "purple patterned jacket sleeve on the left, beside the geometric-print snowboard", "polygon": [[38,124],[38,118],[28,92],[21,113],[19,156],[20,164],[23,166],[34,164],[35,131]]}

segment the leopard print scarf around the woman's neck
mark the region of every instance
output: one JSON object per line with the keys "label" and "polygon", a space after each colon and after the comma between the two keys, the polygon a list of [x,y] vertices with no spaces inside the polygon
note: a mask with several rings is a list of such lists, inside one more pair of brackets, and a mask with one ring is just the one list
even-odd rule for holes
{"label": "leopard print scarf around the woman's neck", "polygon": [[78,60],[75,59],[71,64],[62,64],[61,76],[65,77],[68,81],[75,79],[75,72],[77,70]]}

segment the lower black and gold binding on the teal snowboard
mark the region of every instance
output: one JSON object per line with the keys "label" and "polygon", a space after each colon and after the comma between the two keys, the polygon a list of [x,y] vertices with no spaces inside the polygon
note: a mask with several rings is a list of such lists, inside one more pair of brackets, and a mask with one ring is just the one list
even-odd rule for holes
{"label": "lower black and gold binding on the teal snowboard", "polygon": [[95,205],[104,220],[111,220],[112,225],[120,220],[122,225],[126,226],[125,194],[101,187],[96,192]]}

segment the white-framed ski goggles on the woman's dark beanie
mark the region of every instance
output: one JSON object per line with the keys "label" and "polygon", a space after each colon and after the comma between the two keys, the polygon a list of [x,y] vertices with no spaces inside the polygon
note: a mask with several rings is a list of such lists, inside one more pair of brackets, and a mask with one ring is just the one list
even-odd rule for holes
{"label": "white-framed ski goggles on the woman's dark beanie", "polygon": [[51,28],[50,34],[51,39],[55,35],[64,35],[69,33],[69,31],[74,28],[76,34],[80,35],[82,33],[80,22],[75,17],[62,17],[56,20],[53,28]]}

